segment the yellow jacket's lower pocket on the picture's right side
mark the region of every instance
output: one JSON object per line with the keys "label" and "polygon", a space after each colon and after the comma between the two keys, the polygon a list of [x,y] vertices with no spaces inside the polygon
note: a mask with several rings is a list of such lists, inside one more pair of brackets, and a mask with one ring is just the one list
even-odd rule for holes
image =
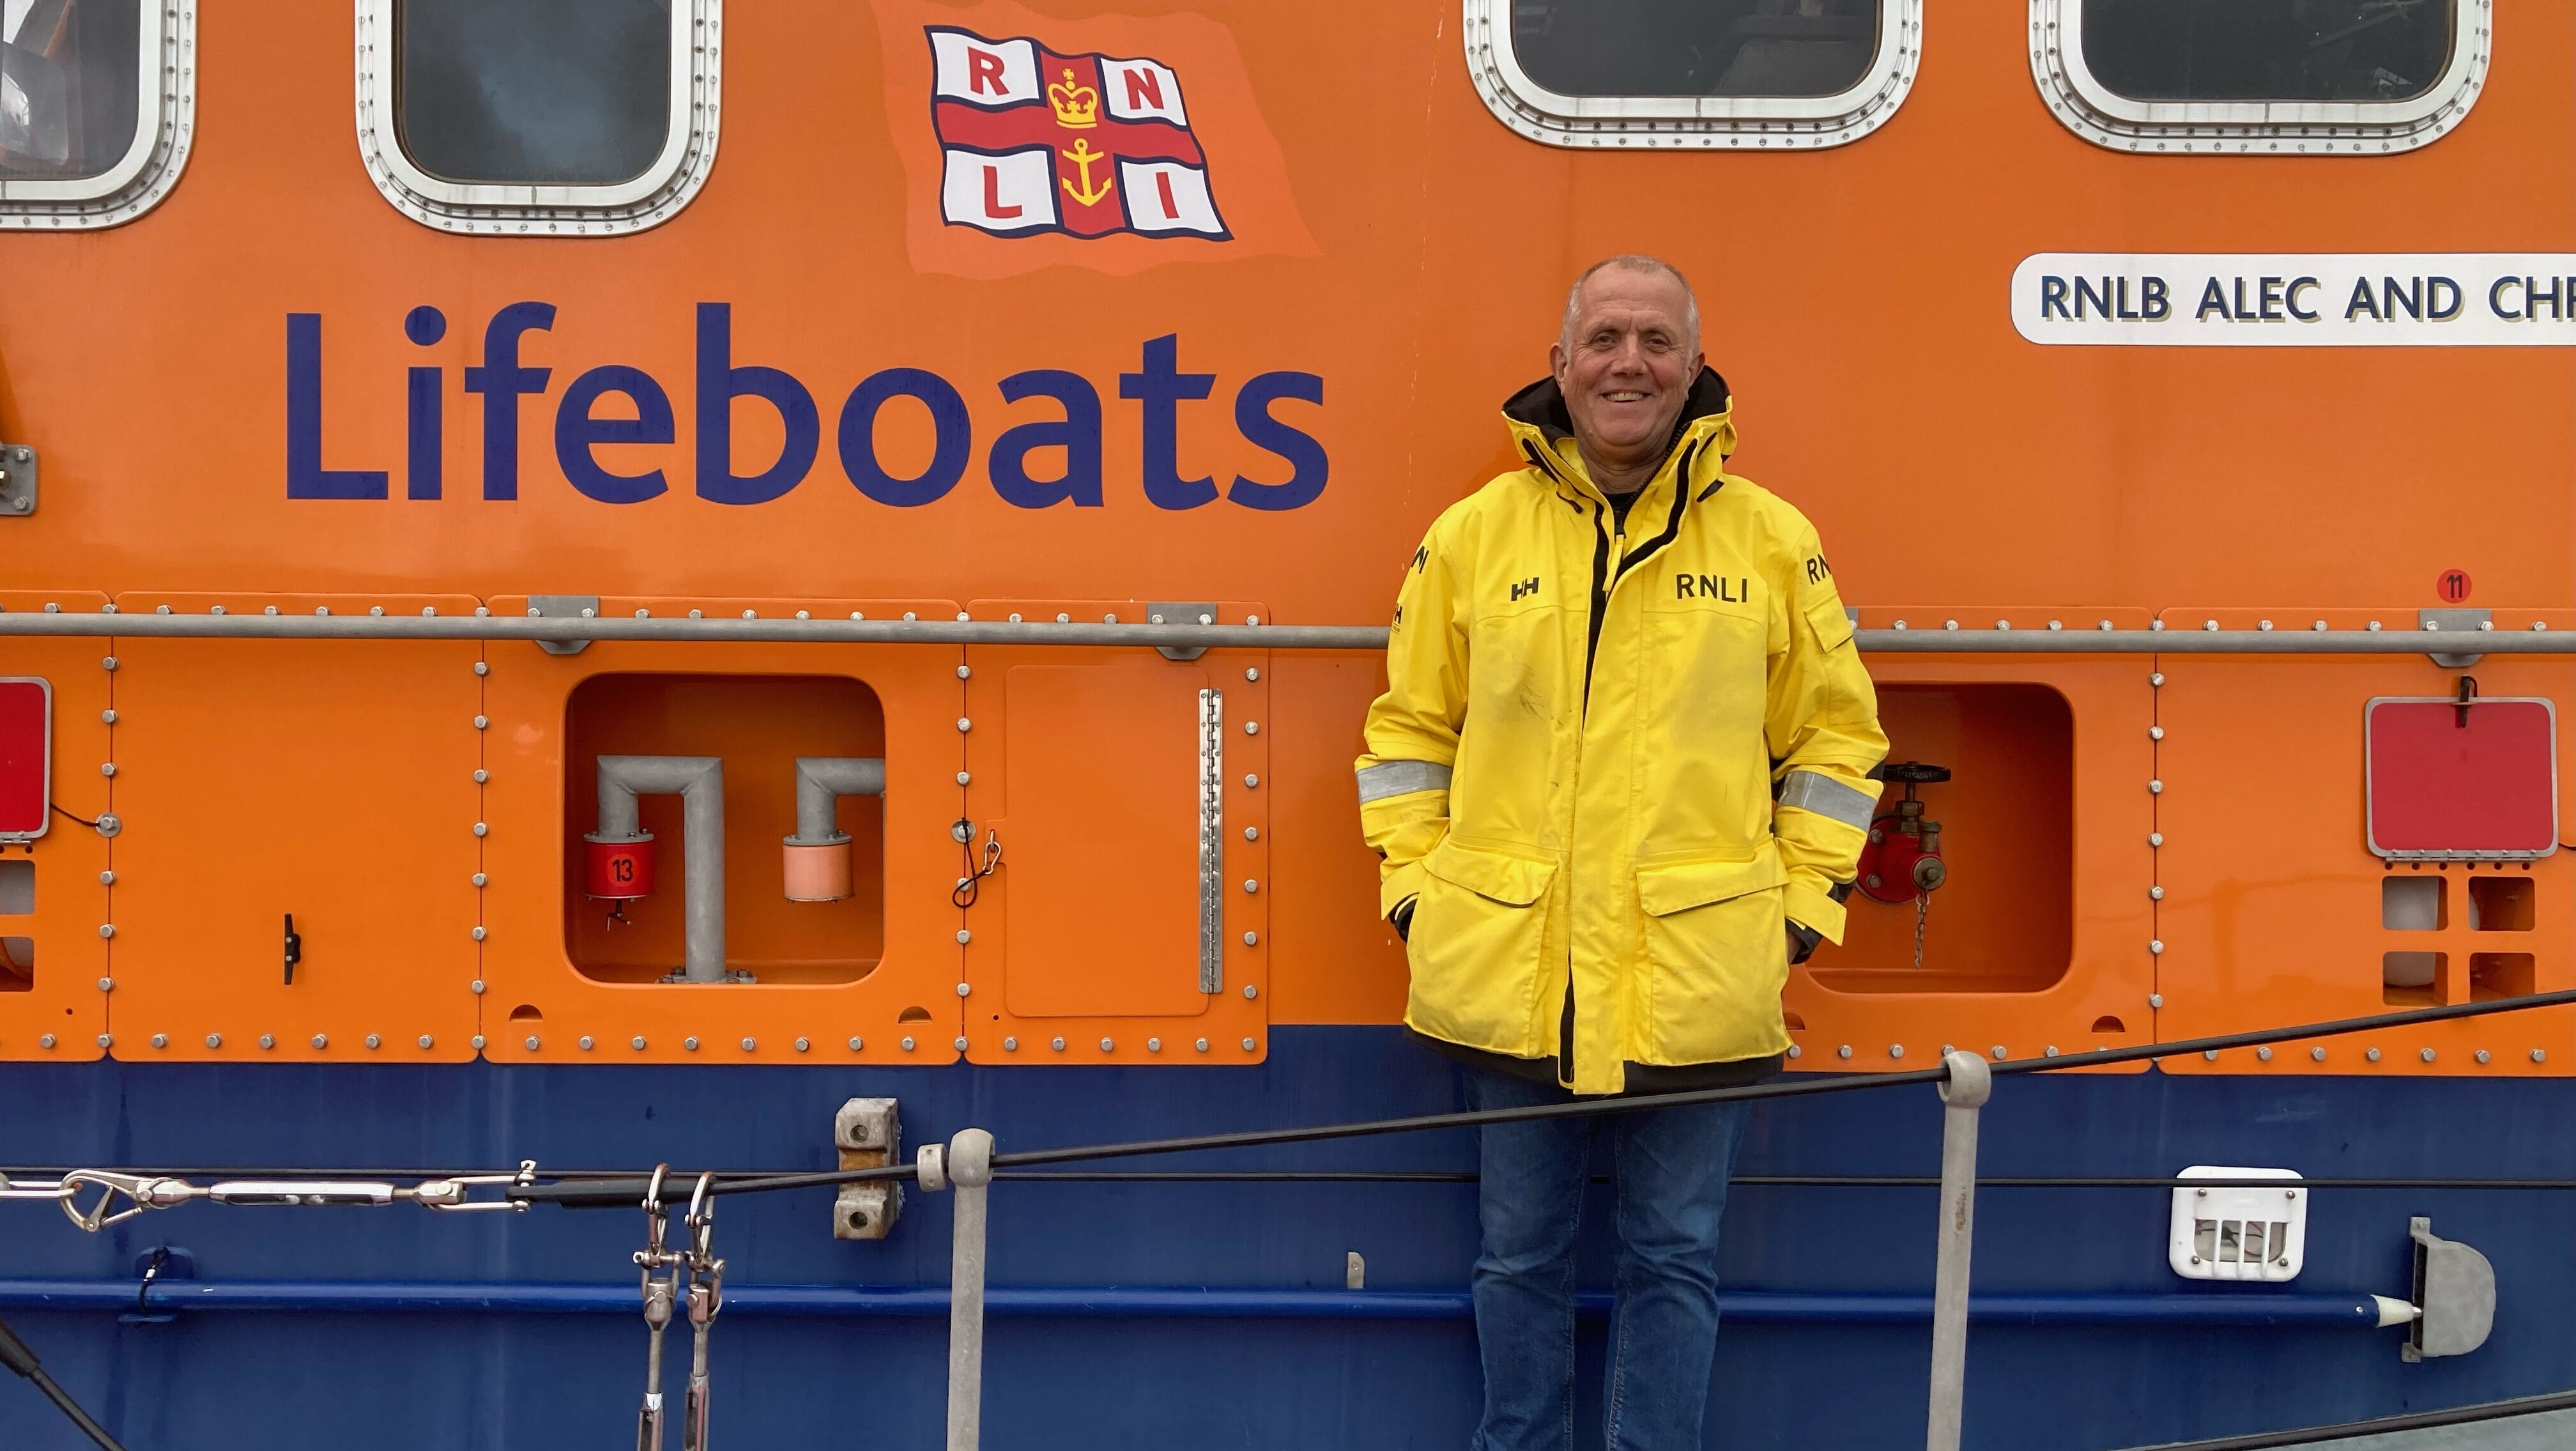
{"label": "yellow jacket's lower pocket on the picture's right side", "polygon": [[1646,1054],[1695,1064],[1777,1054],[1788,982],[1785,874],[1772,843],[1752,858],[1682,858],[1636,869],[1646,915]]}

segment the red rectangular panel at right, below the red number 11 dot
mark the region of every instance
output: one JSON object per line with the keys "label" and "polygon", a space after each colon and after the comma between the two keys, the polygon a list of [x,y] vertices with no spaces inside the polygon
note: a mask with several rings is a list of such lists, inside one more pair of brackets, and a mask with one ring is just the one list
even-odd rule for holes
{"label": "red rectangular panel at right, below the red number 11 dot", "polygon": [[2537,856],[2558,845],[2548,701],[2378,698],[2370,742],[2370,850],[2380,856]]}

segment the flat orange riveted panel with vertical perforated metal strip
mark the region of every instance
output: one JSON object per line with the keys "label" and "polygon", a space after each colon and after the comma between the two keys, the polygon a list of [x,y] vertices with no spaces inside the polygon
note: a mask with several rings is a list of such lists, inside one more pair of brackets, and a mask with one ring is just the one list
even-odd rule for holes
{"label": "flat orange riveted panel with vertical perforated metal strip", "polygon": [[[1139,621],[1149,608],[979,601],[971,613]],[[1224,624],[1262,613],[1208,608]],[[969,817],[979,850],[1002,843],[961,915],[974,1062],[1257,1062],[1278,889],[1267,652],[966,657]]]}

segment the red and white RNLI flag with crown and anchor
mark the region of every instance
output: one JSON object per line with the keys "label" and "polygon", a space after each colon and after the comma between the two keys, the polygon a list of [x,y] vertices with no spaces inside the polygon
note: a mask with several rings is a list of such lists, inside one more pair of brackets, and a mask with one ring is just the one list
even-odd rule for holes
{"label": "red and white RNLI flag with crown and anchor", "polygon": [[940,216],[997,237],[1229,240],[1180,72],[927,26]]}

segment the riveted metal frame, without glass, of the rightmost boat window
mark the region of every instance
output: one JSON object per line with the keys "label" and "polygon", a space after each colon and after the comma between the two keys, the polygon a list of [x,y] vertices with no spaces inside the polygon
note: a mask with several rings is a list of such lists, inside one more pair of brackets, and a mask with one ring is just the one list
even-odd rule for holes
{"label": "riveted metal frame, without glass, of the rightmost boat window", "polygon": [[2398,155],[2439,142],[2486,90],[2494,0],[2452,0],[2450,64],[2411,101],[2130,101],[2084,64],[2084,0],[2030,0],[2030,77],[2069,131],[2112,152]]}

